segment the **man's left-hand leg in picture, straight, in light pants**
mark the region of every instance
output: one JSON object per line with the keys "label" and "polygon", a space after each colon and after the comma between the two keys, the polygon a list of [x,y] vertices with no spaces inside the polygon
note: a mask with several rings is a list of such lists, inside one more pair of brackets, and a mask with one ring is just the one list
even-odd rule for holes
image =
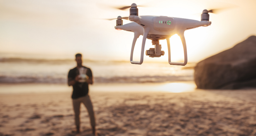
{"label": "man's left-hand leg in picture, straight, in light pants", "polygon": [[80,133],[80,103],[80,99],[73,99],[73,108],[75,113],[75,125],[77,133]]}

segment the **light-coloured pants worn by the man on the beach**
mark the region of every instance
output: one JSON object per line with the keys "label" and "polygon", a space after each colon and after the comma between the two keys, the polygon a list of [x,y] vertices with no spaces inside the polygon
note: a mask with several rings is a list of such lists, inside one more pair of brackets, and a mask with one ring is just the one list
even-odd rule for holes
{"label": "light-coloured pants worn by the man on the beach", "polygon": [[93,111],[93,104],[91,103],[90,96],[86,95],[77,99],[73,100],[73,108],[75,112],[75,125],[80,126],[80,104],[81,102],[84,103],[85,107],[87,108],[87,111],[90,116],[90,122],[91,126],[95,126],[95,117],[94,117],[94,111]]}

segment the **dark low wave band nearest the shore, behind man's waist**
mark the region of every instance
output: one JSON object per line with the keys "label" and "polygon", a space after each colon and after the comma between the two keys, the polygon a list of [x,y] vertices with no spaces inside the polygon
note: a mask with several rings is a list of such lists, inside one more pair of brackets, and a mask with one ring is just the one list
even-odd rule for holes
{"label": "dark low wave band nearest the shore, behind man's waist", "polygon": [[[95,83],[159,83],[175,81],[193,81],[191,76],[141,76],[141,77],[95,77]],[[0,76],[0,83],[67,83],[67,78],[61,77],[26,77]]]}

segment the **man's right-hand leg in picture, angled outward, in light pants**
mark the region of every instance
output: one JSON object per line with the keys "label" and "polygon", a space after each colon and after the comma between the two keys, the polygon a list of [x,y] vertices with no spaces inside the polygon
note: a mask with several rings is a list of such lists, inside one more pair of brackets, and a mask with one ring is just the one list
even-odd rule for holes
{"label": "man's right-hand leg in picture, angled outward, in light pants", "polygon": [[95,129],[95,116],[94,116],[94,111],[93,111],[93,104],[91,103],[91,99],[89,95],[86,95],[83,97],[82,102],[84,103],[85,107],[87,108],[87,111],[90,116],[90,122],[91,122],[91,129],[93,131],[93,134],[96,134],[96,129]]}

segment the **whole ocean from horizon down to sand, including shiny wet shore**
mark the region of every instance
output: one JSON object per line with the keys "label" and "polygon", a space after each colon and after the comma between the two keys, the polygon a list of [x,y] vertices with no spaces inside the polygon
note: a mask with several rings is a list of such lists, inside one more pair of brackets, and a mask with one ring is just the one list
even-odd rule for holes
{"label": "whole ocean from horizon down to sand, including shiny wet shore", "polygon": [[[144,62],[142,65],[125,61],[83,60],[94,76],[90,91],[114,92],[189,92],[196,88],[194,66],[169,65],[168,62]],[[0,94],[37,92],[72,92],[67,85],[72,59],[0,58]]]}

